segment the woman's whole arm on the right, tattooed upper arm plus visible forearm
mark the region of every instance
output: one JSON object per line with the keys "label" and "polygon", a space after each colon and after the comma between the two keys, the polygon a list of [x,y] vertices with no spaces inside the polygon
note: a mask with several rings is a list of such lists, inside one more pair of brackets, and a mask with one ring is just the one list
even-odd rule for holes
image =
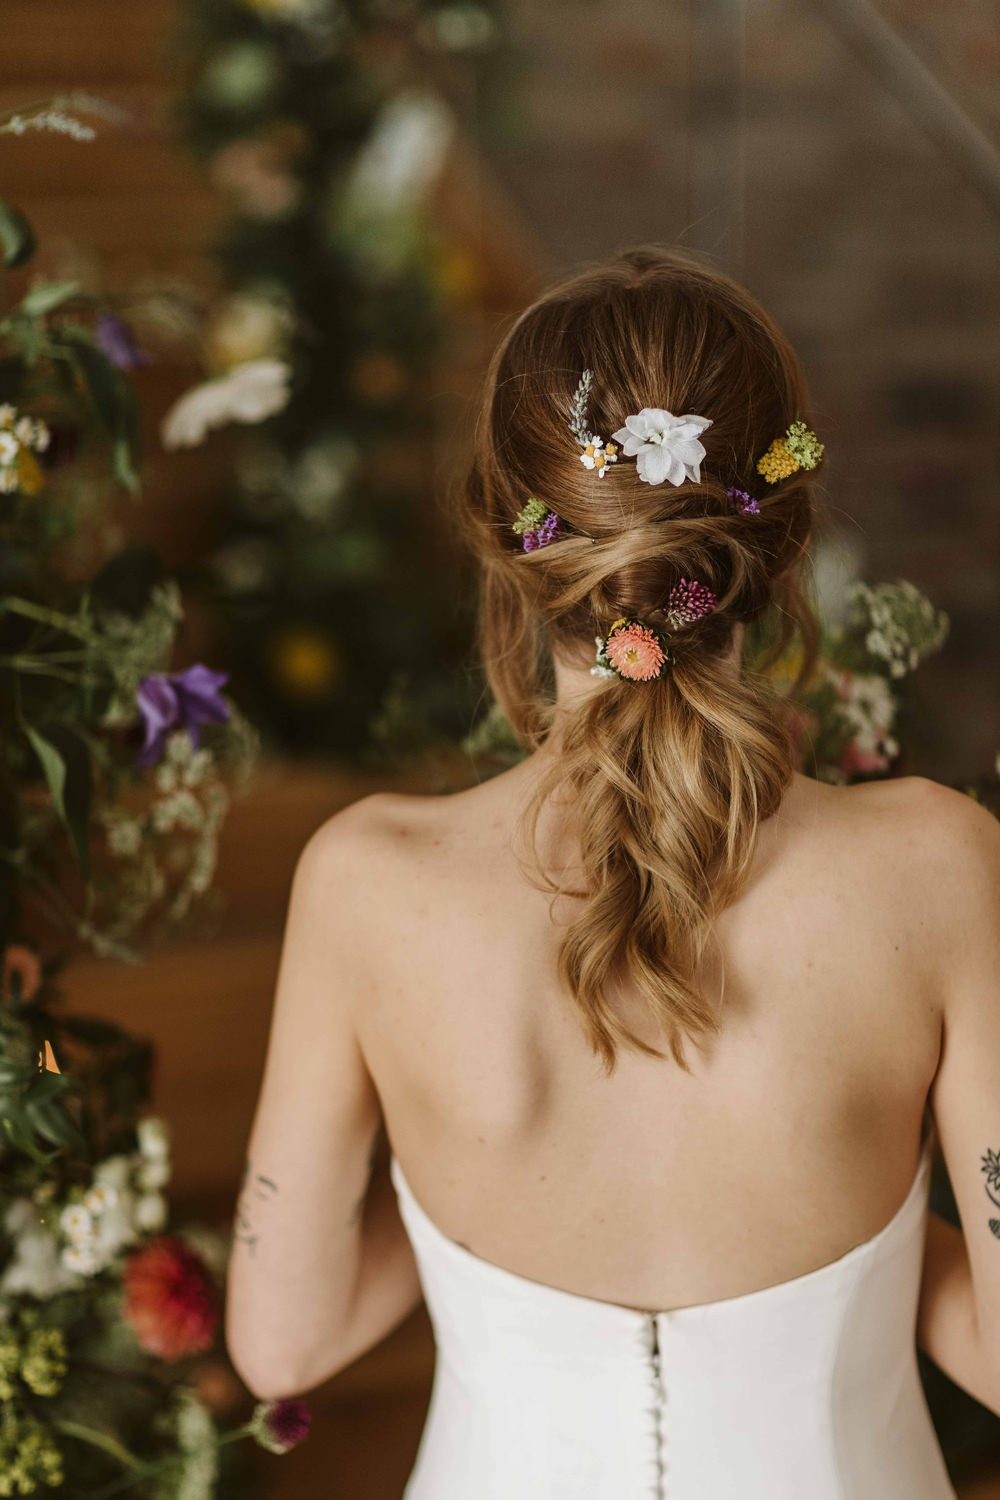
{"label": "woman's whole arm on the right, tattooed upper arm plus visible forearm", "polygon": [[1000,825],[945,788],[927,800],[943,998],[930,1104],[963,1227],[930,1215],[918,1342],[1000,1414]]}

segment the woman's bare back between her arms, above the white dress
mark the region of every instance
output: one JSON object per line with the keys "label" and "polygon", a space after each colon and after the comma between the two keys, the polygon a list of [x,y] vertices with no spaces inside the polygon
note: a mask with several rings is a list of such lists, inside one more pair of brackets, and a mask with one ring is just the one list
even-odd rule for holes
{"label": "woman's bare back between her arms, above the white dress", "polygon": [[[717,924],[720,1036],[687,1050],[690,1074],[621,1050],[607,1077],[556,982],[559,904],[514,856],[537,774],[529,758],[454,796],[372,800],[355,1029],[426,1212],[519,1275],[642,1308],[739,1296],[873,1236],[913,1180],[942,1044],[919,858],[939,789],[796,777]],[[546,842],[564,860],[555,812]]]}

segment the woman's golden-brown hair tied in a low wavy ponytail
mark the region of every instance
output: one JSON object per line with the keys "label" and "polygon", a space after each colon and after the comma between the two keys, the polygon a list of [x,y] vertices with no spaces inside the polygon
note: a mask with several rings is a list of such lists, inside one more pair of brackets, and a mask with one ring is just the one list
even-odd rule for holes
{"label": "woman's golden-brown hair tied in a low wavy ponytail", "polygon": [[[606,440],[643,406],[711,417],[700,482],[648,484],[622,459],[598,478],[567,428],[580,372],[594,372],[588,423]],[[712,614],[670,636],[655,681],[595,684],[561,724],[561,753],[526,808],[535,848],[547,798],[579,816],[583,900],[559,975],[610,1072],[616,1044],[652,1056],[622,1020],[616,990],[648,1005],[673,1058],[720,1030],[697,975],[712,922],[739,894],[759,824],[778,807],[795,759],[787,716],[759,674],[732,660],[733,627],[771,612],[775,654],[795,633],[804,662],[816,624],[801,585],[813,476],[775,484],[759,458],[810,422],[787,339],[736,282],[675,250],[639,249],[555,286],[517,318],[487,374],[462,524],[481,564],[480,648],[490,688],[526,750],[553,726],[552,657],[588,666],[619,616],[657,627],[672,588],[699,579]],[[744,514],[726,494],[756,494]],[[519,549],[513,522],[537,496],[567,524]],[[805,668],[804,668],[805,670]]]}

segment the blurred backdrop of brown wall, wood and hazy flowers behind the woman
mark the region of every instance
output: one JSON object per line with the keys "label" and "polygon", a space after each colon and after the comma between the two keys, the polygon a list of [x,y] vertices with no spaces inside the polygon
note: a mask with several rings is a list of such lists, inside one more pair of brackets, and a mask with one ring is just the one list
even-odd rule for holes
{"label": "blurred backdrop of brown wall, wood and hazy flowers behind the woman", "polygon": [[[951,616],[904,770],[993,765],[993,0],[6,0],[4,63],[4,111],[123,111],[90,142],[0,140],[3,196],[48,274],[130,315],[144,500],[114,526],[178,570],[186,658],[231,674],[264,744],[204,930],[66,981],[156,1042],[190,1212],[232,1209],[298,849],[369,790],[442,784],[424,752],[481,706],[438,501],[505,318],[553,274],[657,240],[762,298],[828,444],[820,586],[906,578]],[[282,411],[178,411],[255,360],[289,366]],[[318,1395],[261,1492],[397,1497],[432,1358],[420,1314]],[[963,1496],[999,1496],[996,1426],[937,1400]]]}

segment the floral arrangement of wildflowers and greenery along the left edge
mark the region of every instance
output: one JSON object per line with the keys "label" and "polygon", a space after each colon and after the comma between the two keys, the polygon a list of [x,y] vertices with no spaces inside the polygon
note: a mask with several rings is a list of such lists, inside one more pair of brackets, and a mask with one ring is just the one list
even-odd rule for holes
{"label": "floral arrangement of wildflowers and greenery along the left edge", "polygon": [[[75,148],[106,112],[70,96],[0,132]],[[0,200],[0,1497],[208,1500],[229,1444],[283,1452],[309,1413],[220,1428],[226,1245],[171,1224],[148,1046],[66,1012],[58,970],[205,900],[253,736],[223,672],[174,669],[180,592],[109,519],[148,354],[82,286],[27,280],[34,249]]]}

